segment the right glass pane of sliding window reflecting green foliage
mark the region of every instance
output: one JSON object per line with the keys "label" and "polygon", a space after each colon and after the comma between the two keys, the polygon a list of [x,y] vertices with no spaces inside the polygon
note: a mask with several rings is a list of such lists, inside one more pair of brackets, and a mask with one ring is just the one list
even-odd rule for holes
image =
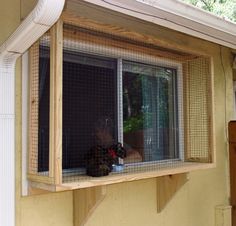
{"label": "right glass pane of sliding window reflecting green foliage", "polygon": [[126,162],[178,157],[176,70],[123,63],[123,137]]}

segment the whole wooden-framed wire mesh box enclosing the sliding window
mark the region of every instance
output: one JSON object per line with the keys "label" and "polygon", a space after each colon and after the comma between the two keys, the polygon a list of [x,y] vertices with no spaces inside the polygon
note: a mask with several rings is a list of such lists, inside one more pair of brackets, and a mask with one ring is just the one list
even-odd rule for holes
{"label": "whole wooden-framed wire mesh box enclosing the sliding window", "polygon": [[[31,181],[53,190],[209,167],[209,57],[56,26],[30,50]],[[112,179],[90,177],[91,162]]]}

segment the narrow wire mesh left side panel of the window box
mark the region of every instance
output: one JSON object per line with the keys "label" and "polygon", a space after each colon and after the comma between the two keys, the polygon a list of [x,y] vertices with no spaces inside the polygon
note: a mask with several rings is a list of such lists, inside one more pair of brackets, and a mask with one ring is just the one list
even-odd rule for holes
{"label": "narrow wire mesh left side panel of the window box", "polygon": [[50,36],[44,35],[30,49],[29,173],[48,176]]}

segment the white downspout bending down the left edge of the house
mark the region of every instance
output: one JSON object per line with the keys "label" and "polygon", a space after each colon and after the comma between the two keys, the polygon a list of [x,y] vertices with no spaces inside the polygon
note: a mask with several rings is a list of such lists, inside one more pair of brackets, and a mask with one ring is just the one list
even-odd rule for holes
{"label": "white downspout bending down the left edge of the house", "polygon": [[59,18],[65,0],[39,0],[0,46],[0,225],[15,226],[15,63]]}

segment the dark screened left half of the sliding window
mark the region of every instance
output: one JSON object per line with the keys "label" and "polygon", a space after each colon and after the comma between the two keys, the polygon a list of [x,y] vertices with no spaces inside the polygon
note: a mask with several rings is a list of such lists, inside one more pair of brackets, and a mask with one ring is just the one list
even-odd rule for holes
{"label": "dark screened left half of the sliding window", "polygon": [[95,145],[117,141],[116,61],[63,53],[63,169],[84,167]]}

